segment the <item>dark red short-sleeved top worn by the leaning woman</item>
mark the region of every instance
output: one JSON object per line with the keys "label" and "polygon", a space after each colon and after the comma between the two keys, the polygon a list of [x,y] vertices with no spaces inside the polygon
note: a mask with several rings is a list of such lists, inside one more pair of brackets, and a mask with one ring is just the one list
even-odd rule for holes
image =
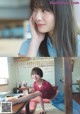
{"label": "dark red short-sleeved top worn by the leaning woman", "polygon": [[51,99],[56,95],[56,89],[53,90],[53,86],[46,80],[43,80],[42,86],[39,88],[38,84],[34,82],[34,91],[40,91],[42,98]]}

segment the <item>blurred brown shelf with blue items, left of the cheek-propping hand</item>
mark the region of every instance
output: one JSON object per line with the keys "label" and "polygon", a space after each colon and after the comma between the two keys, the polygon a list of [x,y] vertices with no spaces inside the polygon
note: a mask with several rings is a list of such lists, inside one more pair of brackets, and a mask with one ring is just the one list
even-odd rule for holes
{"label": "blurred brown shelf with blue items, left of the cheek-propping hand", "polygon": [[21,19],[3,19],[0,20],[0,39],[15,37],[24,37],[24,20]]}

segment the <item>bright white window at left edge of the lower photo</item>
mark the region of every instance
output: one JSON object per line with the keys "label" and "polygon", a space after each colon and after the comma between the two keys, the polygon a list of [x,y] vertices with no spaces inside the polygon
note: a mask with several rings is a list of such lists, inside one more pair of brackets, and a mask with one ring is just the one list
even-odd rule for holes
{"label": "bright white window at left edge of the lower photo", "polygon": [[0,57],[0,85],[7,84],[9,78],[7,57]]}

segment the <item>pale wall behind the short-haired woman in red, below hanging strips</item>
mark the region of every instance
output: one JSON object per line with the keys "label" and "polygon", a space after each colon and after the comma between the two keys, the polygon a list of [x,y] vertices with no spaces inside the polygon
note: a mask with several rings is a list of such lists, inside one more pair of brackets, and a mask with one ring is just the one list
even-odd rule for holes
{"label": "pale wall behind the short-haired woman in red, below hanging strips", "polygon": [[[32,60],[34,62],[34,60]],[[44,60],[43,60],[44,62]],[[54,71],[54,60],[53,66],[38,66],[37,62],[35,65],[27,66],[27,61],[23,62],[15,62],[16,66],[16,82],[17,81],[26,81],[29,85],[33,85],[33,81],[31,79],[31,70],[33,67],[37,66],[43,70],[44,76],[43,78],[50,81],[51,84],[55,85],[55,71]]]}

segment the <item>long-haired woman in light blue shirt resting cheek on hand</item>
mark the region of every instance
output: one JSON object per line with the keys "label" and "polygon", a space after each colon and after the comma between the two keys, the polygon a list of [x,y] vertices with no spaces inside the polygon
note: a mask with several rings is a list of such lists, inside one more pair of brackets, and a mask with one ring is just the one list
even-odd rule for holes
{"label": "long-haired woman in light blue shirt resting cheek on hand", "polygon": [[71,3],[72,0],[31,0],[32,38],[22,44],[19,56],[80,56],[80,31]]}

